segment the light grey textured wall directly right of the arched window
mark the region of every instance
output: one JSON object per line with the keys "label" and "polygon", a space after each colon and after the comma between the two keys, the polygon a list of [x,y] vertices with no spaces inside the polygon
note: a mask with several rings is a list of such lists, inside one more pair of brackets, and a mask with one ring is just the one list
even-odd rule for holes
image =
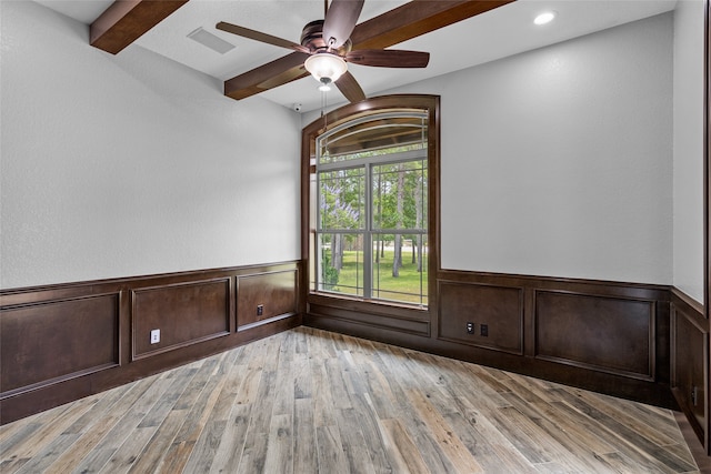
{"label": "light grey textured wall directly right of the arched window", "polygon": [[671,14],[393,92],[442,97],[443,268],[672,282]]}

